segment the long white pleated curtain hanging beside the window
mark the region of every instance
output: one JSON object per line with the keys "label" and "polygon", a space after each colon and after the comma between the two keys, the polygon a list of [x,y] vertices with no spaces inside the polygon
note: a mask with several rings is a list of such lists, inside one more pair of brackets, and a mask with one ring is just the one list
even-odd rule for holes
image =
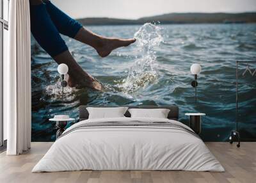
{"label": "long white pleated curtain hanging beside the window", "polygon": [[31,55],[29,0],[10,0],[8,60],[4,62],[4,120],[8,155],[31,145]]}

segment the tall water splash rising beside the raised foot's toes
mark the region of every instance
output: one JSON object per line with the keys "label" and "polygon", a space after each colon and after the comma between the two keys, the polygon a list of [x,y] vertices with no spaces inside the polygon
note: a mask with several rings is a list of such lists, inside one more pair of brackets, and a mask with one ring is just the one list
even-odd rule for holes
{"label": "tall water splash rising beside the raised foot's toes", "polygon": [[161,28],[146,23],[134,34],[137,55],[120,88],[124,93],[136,93],[157,81],[156,48],[163,42]]}

